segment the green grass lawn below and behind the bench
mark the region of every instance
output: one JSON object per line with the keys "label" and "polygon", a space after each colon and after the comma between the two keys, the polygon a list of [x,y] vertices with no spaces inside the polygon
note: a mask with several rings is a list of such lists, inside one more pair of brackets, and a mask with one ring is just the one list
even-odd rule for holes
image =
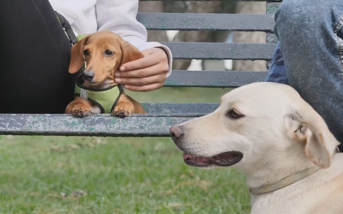
{"label": "green grass lawn below and behind the bench", "polygon": [[[131,94],[141,102],[218,102],[224,92],[167,88]],[[0,154],[0,213],[250,209],[243,173],[189,167],[169,138],[0,136]]]}

